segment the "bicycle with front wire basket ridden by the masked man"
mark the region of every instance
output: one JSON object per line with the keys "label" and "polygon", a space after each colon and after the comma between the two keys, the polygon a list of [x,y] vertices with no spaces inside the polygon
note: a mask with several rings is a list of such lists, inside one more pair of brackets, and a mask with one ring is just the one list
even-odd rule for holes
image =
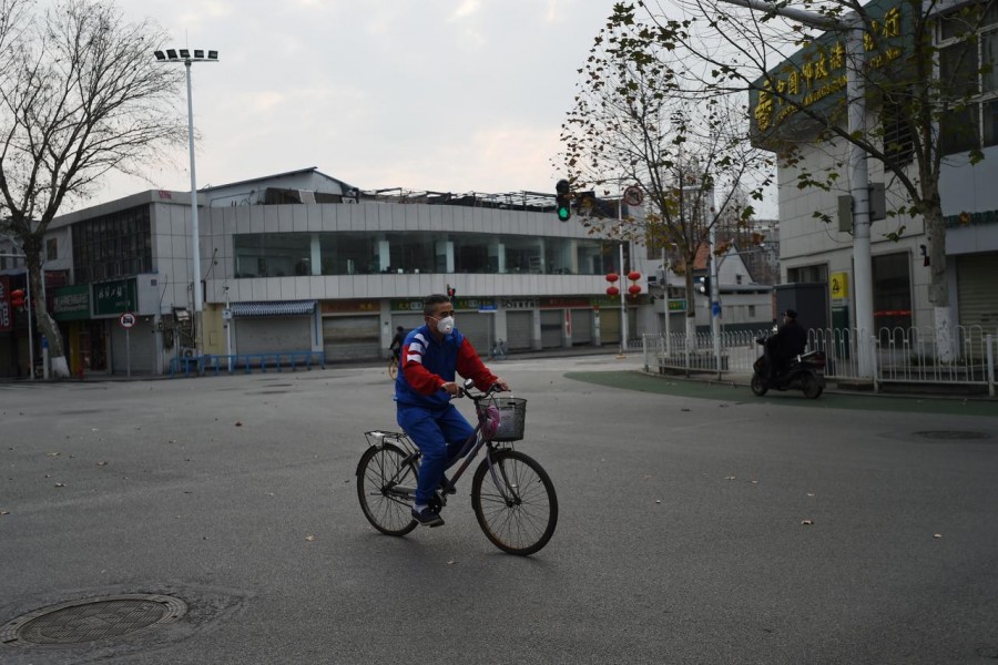
{"label": "bicycle with front wire basket ridden by the masked man", "polygon": [[[475,402],[478,424],[457,458],[464,462],[434,493],[430,505],[447,505],[464,475],[485,448],[486,456],[471,480],[471,508],[478,525],[493,545],[527,556],[541,550],[554,534],[558,497],[548,472],[531,457],[512,448],[523,438],[527,400],[497,397],[497,387],[472,393],[465,381],[461,393]],[[418,522],[411,508],[416,497],[420,452],[405,432],[365,432],[368,448],[357,464],[357,498],[371,525],[387,535],[406,535]]]}

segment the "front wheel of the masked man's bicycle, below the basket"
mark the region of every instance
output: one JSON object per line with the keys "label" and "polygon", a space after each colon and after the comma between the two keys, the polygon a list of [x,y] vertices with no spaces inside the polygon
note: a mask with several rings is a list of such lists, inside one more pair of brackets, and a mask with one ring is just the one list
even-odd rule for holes
{"label": "front wheel of the masked man's bicycle, below the basket", "polygon": [[471,482],[471,507],[486,536],[509,554],[538,552],[558,524],[551,478],[533,458],[516,450],[490,451],[481,461]]}

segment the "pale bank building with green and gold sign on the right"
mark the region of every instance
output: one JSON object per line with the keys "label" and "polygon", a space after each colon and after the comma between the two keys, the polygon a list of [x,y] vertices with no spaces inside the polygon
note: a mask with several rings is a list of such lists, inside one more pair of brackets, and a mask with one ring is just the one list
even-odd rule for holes
{"label": "pale bank building with green and gold sign on the right", "polygon": [[[866,7],[874,17],[885,17],[877,23],[883,31],[879,37],[904,39],[903,19],[897,18],[899,14],[892,14],[902,4],[894,0],[877,0]],[[944,61],[950,43],[945,25],[945,20],[939,22],[936,35]],[[895,32],[888,33],[890,30]],[[821,40],[818,42],[822,43]],[[778,78],[778,85],[785,86],[784,90],[798,91],[804,103],[815,109],[841,103],[845,64],[834,58],[836,47],[832,43],[827,60],[825,55],[818,58],[814,53],[809,58],[802,57],[802,50],[794,57],[797,60],[792,58],[774,68],[772,71]],[[896,52],[903,51],[898,49]],[[998,289],[994,286],[998,276],[998,268],[995,267],[998,265],[998,188],[995,187],[998,182],[998,76],[981,73],[977,63],[992,61],[996,52],[998,10],[991,8],[984,17],[979,41],[967,53],[970,60],[960,69],[968,76],[968,85],[972,85],[979,94],[966,108],[944,116],[941,123],[945,156],[940,198],[947,222],[946,282],[951,319],[965,327],[982,327],[986,331],[998,331]],[[873,59],[872,62],[870,66],[875,69],[877,62],[884,60]],[[811,78],[806,78],[808,73]],[[851,201],[847,197],[851,186],[847,167],[849,145],[841,139],[815,141],[813,127],[808,133],[805,122],[794,124],[795,112],[790,105],[782,105],[775,98],[764,102],[765,106],[758,98],[754,99],[752,111],[756,129],[765,130],[765,125],[772,129],[775,123],[787,122],[787,129],[777,131],[802,147],[802,160],[791,167],[782,166],[778,172],[783,282],[827,285],[826,320],[811,323],[813,327],[855,328],[854,243],[847,214],[845,219],[839,214],[841,200],[845,198],[846,205]],[[887,111],[870,98],[867,127],[888,127],[885,142],[889,140],[894,143],[888,146],[889,150],[904,151],[910,136],[906,139],[904,134],[892,134],[889,120]],[[774,150],[778,147],[778,143],[771,145]],[[972,149],[980,149],[985,156],[974,166],[967,157]],[[882,184],[886,188],[887,209],[909,204],[900,185],[889,174],[885,175],[883,163],[869,158],[867,166],[870,183]],[[843,176],[838,188],[798,187],[797,176],[801,173],[832,171]],[[826,221],[815,215],[824,215]],[[898,215],[872,223],[870,277],[874,326],[877,330],[933,327],[933,304],[928,293],[931,266],[926,256],[928,243],[921,217]]]}

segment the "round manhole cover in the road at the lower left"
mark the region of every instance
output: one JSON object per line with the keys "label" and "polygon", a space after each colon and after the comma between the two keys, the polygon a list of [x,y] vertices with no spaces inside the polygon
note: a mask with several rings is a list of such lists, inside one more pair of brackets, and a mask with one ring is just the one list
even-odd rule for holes
{"label": "round manhole cover in the road at the lower left", "polygon": [[72,646],[123,637],[172,623],[187,613],[180,598],[123,594],[70,601],[24,614],[0,628],[0,643],[12,646]]}

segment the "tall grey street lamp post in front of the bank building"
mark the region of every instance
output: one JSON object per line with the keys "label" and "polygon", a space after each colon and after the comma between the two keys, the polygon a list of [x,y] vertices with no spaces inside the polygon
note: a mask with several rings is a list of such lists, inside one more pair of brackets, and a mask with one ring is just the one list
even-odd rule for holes
{"label": "tall grey street lamp post in front of the bank building", "polygon": [[[848,106],[849,134],[863,134],[866,130],[866,99],[863,80],[863,18],[856,11],[841,19],[813,11],[782,7],[766,0],[723,0],[754,11],[777,13],[819,30],[846,30],[846,104]],[[859,376],[873,377],[873,267],[869,248],[869,173],[866,151],[852,143],[849,146],[849,194],[853,198],[853,265],[856,273],[856,332],[858,339]]]}

